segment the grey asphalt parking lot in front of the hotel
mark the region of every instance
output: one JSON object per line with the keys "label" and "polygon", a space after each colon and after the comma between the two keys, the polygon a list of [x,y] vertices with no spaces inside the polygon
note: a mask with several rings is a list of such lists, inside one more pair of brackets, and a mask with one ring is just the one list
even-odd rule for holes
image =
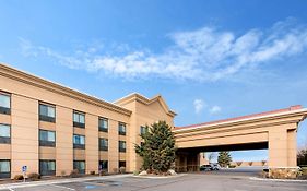
{"label": "grey asphalt parking lot in front of the hotel", "polygon": [[178,177],[149,179],[133,176],[113,177],[69,183],[11,188],[11,191],[306,191],[307,182],[281,182],[251,179],[251,174],[229,170],[186,174]]}

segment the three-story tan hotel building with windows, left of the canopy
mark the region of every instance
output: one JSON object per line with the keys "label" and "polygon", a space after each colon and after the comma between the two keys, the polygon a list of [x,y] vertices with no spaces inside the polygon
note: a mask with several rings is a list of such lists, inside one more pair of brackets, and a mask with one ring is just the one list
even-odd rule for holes
{"label": "three-story tan hotel building with windows, left of the canopy", "polygon": [[115,103],[0,64],[0,178],[27,172],[69,175],[133,171],[146,124],[176,116],[157,95]]}

